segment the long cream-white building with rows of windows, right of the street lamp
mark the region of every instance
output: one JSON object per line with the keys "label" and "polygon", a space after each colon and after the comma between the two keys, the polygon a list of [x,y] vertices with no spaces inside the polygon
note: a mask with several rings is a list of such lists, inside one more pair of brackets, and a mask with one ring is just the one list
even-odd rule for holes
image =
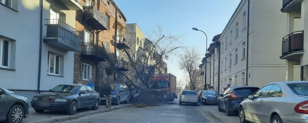
{"label": "long cream-white building with rows of windows, right of the street lamp", "polygon": [[[285,80],[286,62],[278,58],[287,23],[281,5],[277,0],[241,0],[219,38],[220,93],[227,84],[261,87]],[[299,72],[293,74],[300,78]]]}

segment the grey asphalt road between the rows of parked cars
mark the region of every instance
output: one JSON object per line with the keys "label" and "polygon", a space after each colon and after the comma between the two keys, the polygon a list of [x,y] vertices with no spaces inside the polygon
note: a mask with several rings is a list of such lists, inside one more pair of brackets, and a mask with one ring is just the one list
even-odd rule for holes
{"label": "grey asphalt road between the rows of parked cars", "polygon": [[148,123],[149,121],[156,123],[219,123],[208,113],[205,113],[201,106],[179,105],[178,99],[163,106],[127,107],[60,123]]}

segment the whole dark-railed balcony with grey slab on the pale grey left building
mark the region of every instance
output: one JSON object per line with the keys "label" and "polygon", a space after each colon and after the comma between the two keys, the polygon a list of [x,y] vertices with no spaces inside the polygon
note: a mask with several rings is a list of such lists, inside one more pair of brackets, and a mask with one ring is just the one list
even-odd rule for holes
{"label": "whole dark-railed balcony with grey slab on the pale grey left building", "polygon": [[80,52],[79,32],[59,19],[47,20],[47,34],[43,42],[65,51]]}

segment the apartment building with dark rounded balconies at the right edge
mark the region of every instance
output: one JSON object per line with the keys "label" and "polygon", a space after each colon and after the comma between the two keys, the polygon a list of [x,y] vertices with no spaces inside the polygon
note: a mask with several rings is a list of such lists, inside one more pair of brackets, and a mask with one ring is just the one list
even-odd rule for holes
{"label": "apartment building with dark rounded balconies at the right edge", "polygon": [[[280,0],[282,7],[280,10],[286,14],[283,18],[286,29],[282,32],[280,42],[277,45],[282,46],[280,59],[286,60],[286,81],[308,80],[308,54],[304,47],[308,44],[308,1],[307,0]],[[281,43],[281,44],[279,44]],[[294,66],[300,66],[295,69]],[[298,76],[300,75],[300,78]]]}

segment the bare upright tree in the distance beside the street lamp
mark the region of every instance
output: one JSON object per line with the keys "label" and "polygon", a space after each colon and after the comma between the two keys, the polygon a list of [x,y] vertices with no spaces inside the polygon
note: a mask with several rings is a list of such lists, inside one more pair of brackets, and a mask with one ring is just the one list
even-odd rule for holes
{"label": "bare upright tree in the distance beside the street lamp", "polygon": [[188,74],[188,86],[190,90],[195,90],[195,82],[198,74],[196,69],[198,67],[198,62],[200,61],[201,53],[197,50],[196,47],[185,48],[184,52],[179,56],[178,66],[181,70],[184,70],[185,74]]}

